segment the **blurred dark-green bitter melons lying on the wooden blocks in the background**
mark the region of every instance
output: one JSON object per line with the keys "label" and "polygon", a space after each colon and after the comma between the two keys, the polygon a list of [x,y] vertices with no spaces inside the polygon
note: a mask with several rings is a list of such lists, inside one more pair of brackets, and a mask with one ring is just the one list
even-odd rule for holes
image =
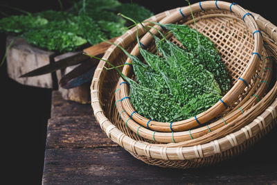
{"label": "blurred dark-green bitter melons lying on the wooden blocks in the background", "polygon": [[139,21],[152,16],[150,10],[137,4],[117,0],[82,0],[66,11],[46,10],[26,15],[12,15],[0,19],[0,32],[20,35],[30,44],[42,49],[75,51],[101,42],[100,38],[118,37],[127,30],[127,21],[117,13],[132,6]]}

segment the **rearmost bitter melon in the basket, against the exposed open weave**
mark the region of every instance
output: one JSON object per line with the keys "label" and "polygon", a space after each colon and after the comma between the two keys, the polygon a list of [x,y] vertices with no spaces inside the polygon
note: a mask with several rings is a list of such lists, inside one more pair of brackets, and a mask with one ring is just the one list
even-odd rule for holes
{"label": "rearmost bitter melon in the basket, against the exposed open weave", "polygon": [[195,64],[203,65],[205,69],[213,73],[215,80],[225,94],[230,89],[230,79],[215,44],[202,33],[189,28],[188,25],[163,24],[162,26],[170,30],[177,40],[186,47],[186,50],[193,54]]}

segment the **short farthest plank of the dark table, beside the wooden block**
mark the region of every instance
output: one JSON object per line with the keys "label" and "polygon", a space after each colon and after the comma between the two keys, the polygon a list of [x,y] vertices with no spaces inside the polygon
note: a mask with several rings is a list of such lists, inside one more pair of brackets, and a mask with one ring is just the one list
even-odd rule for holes
{"label": "short farthest plank of the dark table, beside the wooden block", "polygon": [[59,91],[53,91],[51,118],[61,116],[90,116],[93,115],[91,105],[82,105],[69,100],[64,100]]}

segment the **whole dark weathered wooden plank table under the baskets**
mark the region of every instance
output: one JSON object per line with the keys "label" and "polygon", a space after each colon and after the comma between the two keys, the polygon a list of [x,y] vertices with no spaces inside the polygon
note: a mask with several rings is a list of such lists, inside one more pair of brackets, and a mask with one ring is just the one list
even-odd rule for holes
{"label": "whole dark weathered wooden plank table under the baskets", "polygon": [[240,157],[193,170],[150,166],[107,138],[91,105],[53,91],[42,184],[277,184],[277,129]]}

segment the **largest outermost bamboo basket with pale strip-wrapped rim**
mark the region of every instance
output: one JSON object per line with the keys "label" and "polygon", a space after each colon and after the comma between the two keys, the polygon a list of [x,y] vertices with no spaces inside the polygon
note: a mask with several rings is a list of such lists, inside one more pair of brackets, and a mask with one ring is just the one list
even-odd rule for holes
{"label": "largest outermost bamboo basket with pale strip-wrapped rim", "polygon": [[[177,8],[177,11],[179,11],[179,8]],[[262,33],[263,38],[267,39],[265,36],[269,37],[268,42],[266,42],[268,43],[267,52],[276,59],[275,42],[277,34],[274,31],[277,27],[260,17],[260,15],[254,13],[252,15],[254,15],[260,29],[265,32]],[[128,41],[123,42],[123,38],[135,37],[135,34],[135,31],[132,34],[131,32],[126,33],[118,39],[116,44],[121,46],[131,44]],[[130,48],[132,49],[132,44],[129,46]],[[272,48],[275,49],[274,52],[271,52]],[[111,46],[103,58],[109,60],[112,64],[118,65],[126,60],[126,56],[122,52],[114,53],[114,49],[116,49],[116,46]],[[119,76],[115,71],[107,73],[104,69],[105,65],[105,61],[98,64],[91,82],[91,106],[93,107],[94,116],[102,130],[112,141],[118,143],[131,155],[147,164],[174,168],[198,168],[215,164],[240,155],[267,134],[276,124],[277,83],[274,79],[273,87],[270,88],[270,91],[262,100],[250,107],[247,112],[217,130],[188,141],[151,143],[152,141],[142,139],[132,130],[122,129],[122,123],[118,121],[119,113],[115,106],[114,97]]]}

